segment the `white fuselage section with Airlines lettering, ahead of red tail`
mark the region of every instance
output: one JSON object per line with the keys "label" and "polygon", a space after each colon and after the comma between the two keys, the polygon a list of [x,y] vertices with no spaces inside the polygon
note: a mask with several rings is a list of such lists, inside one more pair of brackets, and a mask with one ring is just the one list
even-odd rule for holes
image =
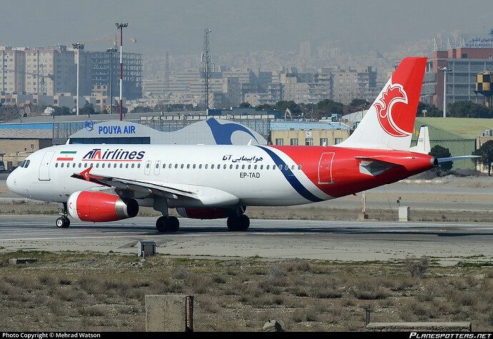
{"label": "white fuselage section with Airlines lettering, ahead of red tail", "polygon": [[[302,171],[303,163],[265,146],[206,145],[63,145],[29,156],[29,164],[14,170],[11,191],[39,201],[66,203],[76,191],[108,189],[71,178],[91,168],[91,175],[138,181],[143,185],[185,191],[196,199],[170,199],[169,207],[289,206],[310,203],[289,184],[294,178],[319,201],[332,198]],[[272,150],[272,148],[269,148]],[[280,159],[280,160],[279,160]],[[277,163],[276,163],[277,161]],[[317,159],[314,159],[317,161]],[[282,165],[281,165],[282,163]],[[282,170],[279,169],[282,166]],[[149,193],[136,193],[139,204],[152,206]]]}

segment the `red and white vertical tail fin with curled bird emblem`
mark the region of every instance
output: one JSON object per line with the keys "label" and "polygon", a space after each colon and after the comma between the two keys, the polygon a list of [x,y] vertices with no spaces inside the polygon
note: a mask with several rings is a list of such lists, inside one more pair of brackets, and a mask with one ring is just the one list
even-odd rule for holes
{"label": "red and white vertical tail fin with curled bird emblem", "polygon": [[337,146],[409,150],[426,63],[402,60],[359,126]]}

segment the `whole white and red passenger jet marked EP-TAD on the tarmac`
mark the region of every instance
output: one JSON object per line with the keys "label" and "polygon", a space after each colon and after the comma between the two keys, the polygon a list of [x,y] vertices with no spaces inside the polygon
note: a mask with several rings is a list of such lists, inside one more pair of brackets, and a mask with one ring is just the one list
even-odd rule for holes
{"label": "whole white and red passenger jet marked EP-TAD on the tarmac", "polygon": [[160,232],[176,231],[176,208],[187,218],[227,218],[246,230],[246,206],[325,201],[437,166],[409,151],[426,58],[402,61],[349,138],[336,146],[75,145],[43,148],[16,168],[7,186],[19,196],[60,203],[67,216],[117,221],[139,206],[163,214]]}

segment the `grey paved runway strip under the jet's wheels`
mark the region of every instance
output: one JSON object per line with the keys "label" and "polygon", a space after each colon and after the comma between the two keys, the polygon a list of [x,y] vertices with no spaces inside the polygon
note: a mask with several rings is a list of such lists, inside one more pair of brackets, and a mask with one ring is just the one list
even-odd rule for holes
{"label": "grey paved runway strip under the jet's wheels", "polygon": [[154,241],[161,255],[262,257],[336,261],[403,260],[424,255],[441,265],[493,260],[493,223],[412,223],[252,219],[245,232],[225,220],[180,219],[176,233],[159,233],[155,218],[111,223],[72,221],[56,228],[56,216],[0,216],[0,251],[98,251],[137,255],[138,241]]}

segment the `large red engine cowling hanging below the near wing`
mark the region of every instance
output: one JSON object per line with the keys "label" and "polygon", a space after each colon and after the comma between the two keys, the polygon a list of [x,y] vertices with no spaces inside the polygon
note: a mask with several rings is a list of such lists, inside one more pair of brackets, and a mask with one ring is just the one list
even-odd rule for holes
{"label": "large red engine cowling hanging below the near wing", "polygon": [[116,221],[133,218],[139,213],[139,203],[134,199],[101,192],[72,193],[67,207],[72,218],[81,221]]}

